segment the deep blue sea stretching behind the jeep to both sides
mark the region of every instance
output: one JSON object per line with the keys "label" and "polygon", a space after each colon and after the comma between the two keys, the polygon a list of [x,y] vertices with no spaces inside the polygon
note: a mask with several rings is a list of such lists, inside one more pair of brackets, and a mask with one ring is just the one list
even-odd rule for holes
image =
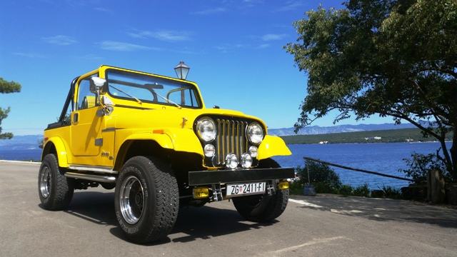
{"label": "deep blue sea stretching behind the jeep to both sides", "polygon": [[[328,144],[291,144],[291,156],[276,156],[274,159],[283,167],[303,166],[303,157],[318,158],[343,166],[361,168],[394,176],[404,177],[399,171],[406,168],[403,160],[411,153],[435,153],[439,148],[437,142],[423,143],[328,143]],[[451,147],[451,143],[448,143]],[[0,149],[0,160],[39,160],[40,148],[32,149]],[[341,178],[341,182],[351,186],[368,184],[371,189],[393,186],[401,188],[408,185],[408,181],[395,178],[386,178],[372,174],[348,171],[343,168],[333,168]]]}

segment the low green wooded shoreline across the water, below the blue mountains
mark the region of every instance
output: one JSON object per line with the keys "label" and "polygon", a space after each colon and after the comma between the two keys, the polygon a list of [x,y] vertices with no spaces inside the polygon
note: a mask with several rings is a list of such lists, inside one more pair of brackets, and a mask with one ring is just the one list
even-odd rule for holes
{"label": "low green wooded shoreline across the water, below the blue mountains", "polygon": [[[453,133],[449,133],[447,140],[452,140]],[[368,139],[381,136],[381,140]],[[436,138],[423,138],[420,129],[389,129],[383,131],[358,131],[344,133],[326,133],[313,135],[281,136],[286,143],[393,143],[405,142],[406,139],[413,141],[436,141]]]}

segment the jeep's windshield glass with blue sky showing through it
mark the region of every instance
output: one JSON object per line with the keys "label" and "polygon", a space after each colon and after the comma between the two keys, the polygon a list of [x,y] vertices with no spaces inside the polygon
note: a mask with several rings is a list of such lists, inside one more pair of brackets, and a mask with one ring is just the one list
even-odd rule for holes
{"label": "jeep's windshield glass with blue sky showing through it", "polygon": [[109,94],[115,98],[136,101],[139,104],[165,104],[201,108],[195,86],[186,82],[161,79],[129,71],[106,71]]}

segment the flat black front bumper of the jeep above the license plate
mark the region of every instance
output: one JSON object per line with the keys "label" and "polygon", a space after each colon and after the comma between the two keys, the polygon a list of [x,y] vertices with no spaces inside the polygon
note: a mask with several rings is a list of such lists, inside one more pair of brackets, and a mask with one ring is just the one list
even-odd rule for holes
{"label": "flat black front bumper of the jeep above the license plate", "polygon": [[240,168],[219,171],[189,171],[189,186],[269,181],[295,177],[293,168]]}

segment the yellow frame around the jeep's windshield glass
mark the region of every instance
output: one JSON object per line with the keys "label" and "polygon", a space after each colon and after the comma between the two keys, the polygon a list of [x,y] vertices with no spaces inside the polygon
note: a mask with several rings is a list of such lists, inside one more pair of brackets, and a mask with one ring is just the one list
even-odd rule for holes
{"label": "yellow frame around the jeep's windshield glass", "polygon": [[[109,86],[109,73],[110,73],[110,71],[115,71],[116,73],[119,73],[119,74],[125,73],[125,74],[132,74],[132,75],[138,75],[138,76],[149,76],[149,77],[154,78],[154,79],[170,81],[171,84],[183,84],[183,86],[186,86],[188,89],[191,89],[194,92],[194,96],[195,96],[195,99],[197,101],[197,105],[198,106],[186,106],[186,105],[181,105],[181,104],[179,104],[179,106],[181,108],[186,108],[186,109],[204,109],[204,102],[203,102],[203,99],[201,99],[201,94],[200,94],[200,91],[199,91],[199,87],[196,86],[196,84],[194,82],[185,81],[185,80],[181,80],[181,79],[175,79],[175,78],[171,78],[171,77],[168,77],[168,76],[149,74],[149,73],[142,72],[142,71],[134,71],[134,70],[129,70],[129,69],[120,69],[120,68],[116,68],[116,67],[112,67],[112,66],[105,66],[105,68],[106,69],[104,69],[104,79],[106,79],[106,81],[108,81],[108,86],[107,86],[107,89],[106,89],[106,93],[109,94],[109,96],[111,96],[114,99],[120,99],[120,100],[126,100],[126,101],[132,101],[132,102],[138,103],[136,101],[136,99],[134,99],[134,98],[127,97],[127,96],[116,96],[114,94],[111,94],[111,89],[110,89],[110,86]],[[179,89],[179,87],[176,87],[176,89]],[[134,95],[132,95],[132,96],[134,96]],[[141,99],[141,98],[140,98],[140,100],[141,100],[142,103],[145,103],[145,104],[154,104],[154,105],[159,105],[159,106],[174,106],[174,107],[176,107],[176,104],[173,104],[171,102],[149,101],[147,99]],[[135,104],[135,106],[136,106],[136,104]],[[134,107],[134,106],[132,106],[132,107]]]}

